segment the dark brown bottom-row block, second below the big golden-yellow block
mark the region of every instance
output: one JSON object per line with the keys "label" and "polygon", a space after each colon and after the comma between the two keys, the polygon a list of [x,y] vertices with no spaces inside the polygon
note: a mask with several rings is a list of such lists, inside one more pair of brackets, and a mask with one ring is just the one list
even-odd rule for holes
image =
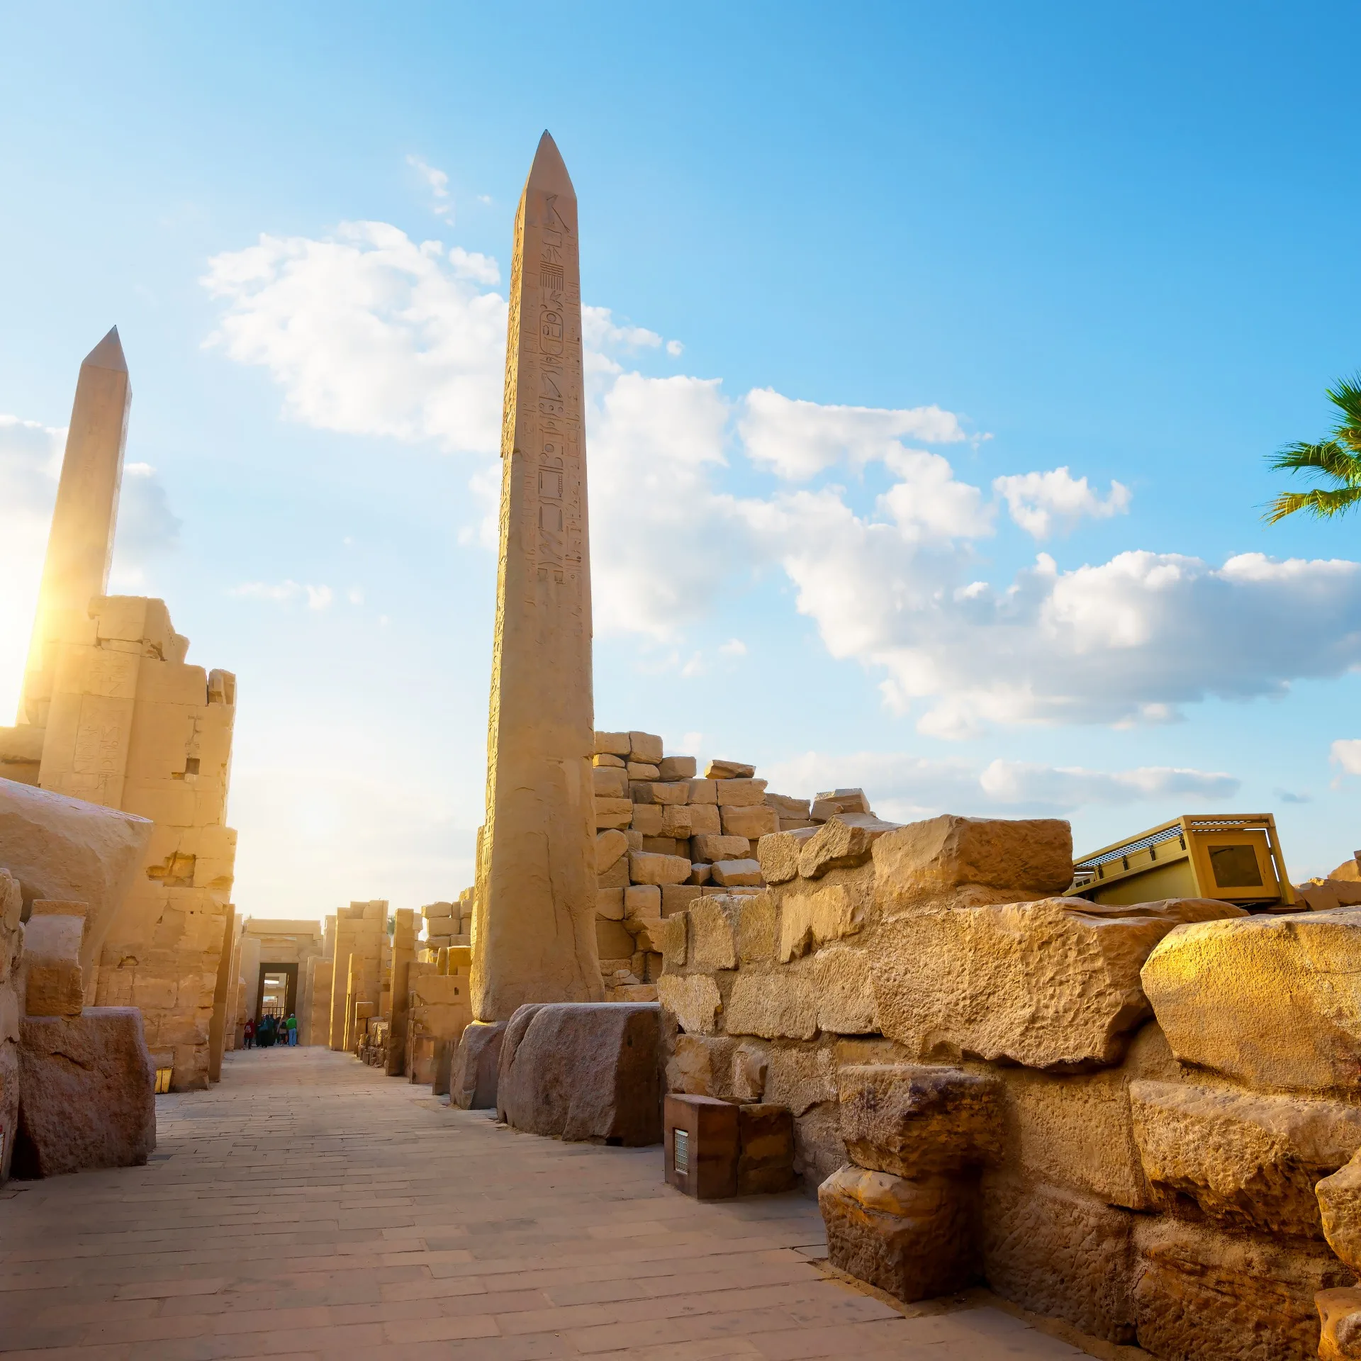
{"label": "dark brown bottom-row block, second below the big golden-yellow block", "polygon": [[1273,1243],[1180,1219],[1135,1225],[1139,1346],[1157,1357],[1312,1361],[1319,1290],[1350,1285],[1322,1244]]}

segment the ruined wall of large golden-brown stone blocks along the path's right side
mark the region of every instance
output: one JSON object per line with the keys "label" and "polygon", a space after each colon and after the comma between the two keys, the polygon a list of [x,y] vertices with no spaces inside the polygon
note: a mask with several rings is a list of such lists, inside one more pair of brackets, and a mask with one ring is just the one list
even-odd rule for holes
{"label": "ruined wall of large golden-brown stone blocks along the path's right side", "polygon": [[1361,909],[1055,897],[1059,822],[834,818],[759,859],[660,924],[667,1085],[791,1108],[834,1264],[1155,1357],[1317,1354],[1361,1260]]}

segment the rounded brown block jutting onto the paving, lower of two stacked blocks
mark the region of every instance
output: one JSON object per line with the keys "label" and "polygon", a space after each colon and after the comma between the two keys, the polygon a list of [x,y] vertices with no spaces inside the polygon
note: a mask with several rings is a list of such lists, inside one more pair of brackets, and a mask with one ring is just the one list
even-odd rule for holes
{"label": "rounded brown block jutting onto the paving, lower of two stacked blocks", "polygon": [[957,1181],[860,1168],[841,1168],[818,1187],[832,1264],[906,1304],[977,1279],[973,1204],[972,1188]]}

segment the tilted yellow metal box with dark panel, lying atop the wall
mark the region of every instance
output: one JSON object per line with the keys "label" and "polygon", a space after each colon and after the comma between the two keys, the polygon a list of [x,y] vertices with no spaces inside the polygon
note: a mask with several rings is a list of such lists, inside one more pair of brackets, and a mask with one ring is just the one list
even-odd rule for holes
{"label": "tilted yellow metal box with dark panel, lying atop the wall", "polygon": [[1259,911],[1296,905],[1270,813],[1175,818],[1093,851],[1072,870],[1068,896],[1090,902],[1221,898]]}

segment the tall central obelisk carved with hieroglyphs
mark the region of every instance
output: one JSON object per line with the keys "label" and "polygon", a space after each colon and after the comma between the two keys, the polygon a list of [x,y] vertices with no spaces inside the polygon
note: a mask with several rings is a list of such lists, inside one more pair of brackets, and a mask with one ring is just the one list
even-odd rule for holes
{"label": "tall central obelisk carved with hieroglyphs", "polygon": [[544,132],[520,196],[472,1009],[599,1002],[577,196]]}

